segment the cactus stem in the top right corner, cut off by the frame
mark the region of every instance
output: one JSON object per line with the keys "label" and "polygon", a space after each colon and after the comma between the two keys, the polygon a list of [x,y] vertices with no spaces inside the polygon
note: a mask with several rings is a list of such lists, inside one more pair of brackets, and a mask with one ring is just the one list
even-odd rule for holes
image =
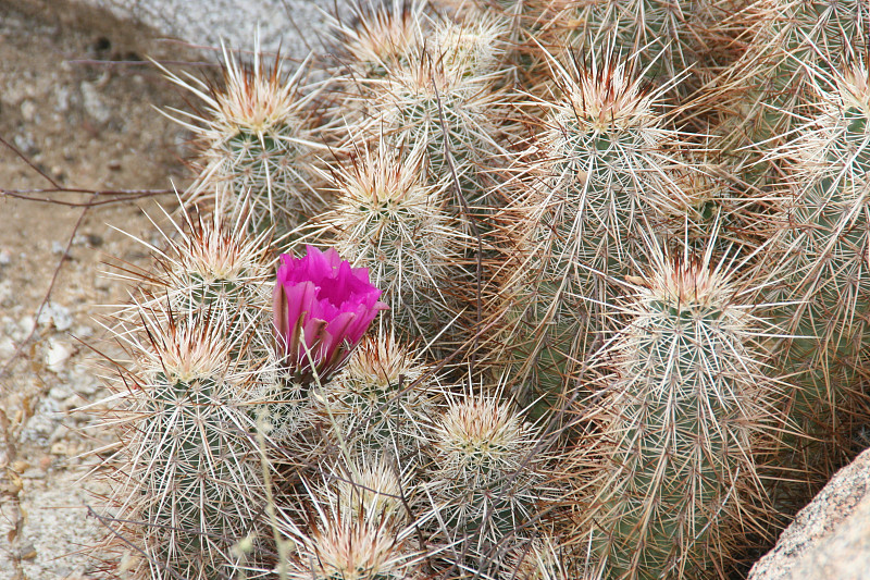
{"label": "cactus stem in the top right corner, cut off by the frame", "polygon": [[843,57],[860,53],[870,21],[860,0],[765,0],[738,21],[748,30],[747,49],[706,86],[697,107],[721,113],[714,131],[724,137],[722,150],[736,145],[741,155],[762,157],[800,125],[813,99],[811,72],[831,74]]}

